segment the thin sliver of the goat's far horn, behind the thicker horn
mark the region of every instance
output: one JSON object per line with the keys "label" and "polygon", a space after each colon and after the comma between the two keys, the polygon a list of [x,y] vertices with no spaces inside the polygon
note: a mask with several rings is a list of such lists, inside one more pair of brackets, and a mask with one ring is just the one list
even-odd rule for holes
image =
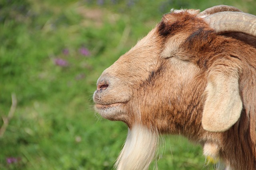
{"label": "thin sliver of the goat's far horn, behind the thicker horn", "polygon": [[238,8],[234,7],[234,6],[227,6],[227,5],[217,5],[217,6],[213,6],[211,8],[207,8],[206,10],[200,12],[198,14],[199,17],[205,17],[211,14],[215,14],[217,12],[224,12],[224,11],[236,11],[236,12],[242,12],[241,10],[239,10]]}

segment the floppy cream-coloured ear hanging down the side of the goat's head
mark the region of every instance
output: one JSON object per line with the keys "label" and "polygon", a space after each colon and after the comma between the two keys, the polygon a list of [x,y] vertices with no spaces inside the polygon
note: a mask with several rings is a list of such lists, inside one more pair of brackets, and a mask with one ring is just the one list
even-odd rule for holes
{"label": "floppy cream-coloured ear hanging down the side of the goat's head", "polygon": [[228,130],[242,111],[238,84],[241,68],[234,62],[238,59],[226,55],[217,58],[208,70],[202,115],[203,128],[212,132]]}

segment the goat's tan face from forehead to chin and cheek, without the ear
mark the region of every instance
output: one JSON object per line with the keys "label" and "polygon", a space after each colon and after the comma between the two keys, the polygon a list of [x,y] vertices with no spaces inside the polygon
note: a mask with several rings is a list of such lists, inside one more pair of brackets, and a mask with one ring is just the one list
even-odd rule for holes
{"label": "goat's tan face from forehead to chin and cheek, without the ear", "polygon": [[[195,12],[164,16],[135,47],[104,70],[94,93],[96,110],[103,117],[124,121],[129,127],[134,123],[154,126],[162,132],[177,133],[188,126],[186,117],[202,109],[205,86],[205,68],[189,62],[193,54],[182,47],[198,25],[205,25],[195,18]],[[187,17],[195,22],[186,22]]]}

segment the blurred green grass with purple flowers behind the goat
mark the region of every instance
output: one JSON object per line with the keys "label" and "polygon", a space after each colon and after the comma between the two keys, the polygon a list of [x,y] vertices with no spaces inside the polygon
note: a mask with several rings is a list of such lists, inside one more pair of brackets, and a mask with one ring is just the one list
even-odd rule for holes
{"label": "blurred green grass with purple flowers behind the goat", "polygon": [[[256,14],[256,0],[0,0],[0,169],[113,169],[127,127],[94,112],[101,72],[171,8],[219,4]],[[200,146],[163,139],[160,170],[213,169]]]}

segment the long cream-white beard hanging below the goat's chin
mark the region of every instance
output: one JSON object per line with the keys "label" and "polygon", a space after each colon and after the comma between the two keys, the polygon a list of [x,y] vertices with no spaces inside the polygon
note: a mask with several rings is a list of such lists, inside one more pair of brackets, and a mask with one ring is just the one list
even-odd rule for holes
{"label": "long cream-white beard hanging below the goat's chin", "polygon": [[128,129],[126,142],[115,167],[117,170],[146,170],[158,147],[159,135],[142,125]]}

